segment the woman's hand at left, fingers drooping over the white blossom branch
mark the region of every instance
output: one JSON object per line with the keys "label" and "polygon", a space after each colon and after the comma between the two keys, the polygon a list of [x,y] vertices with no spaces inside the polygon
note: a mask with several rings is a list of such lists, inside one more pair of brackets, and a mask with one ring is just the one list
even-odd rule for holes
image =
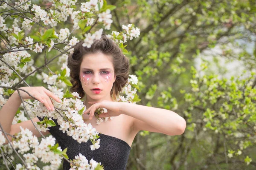
{"label": "woman's hand at left, fingers drooping over the white blossom branch", "polygon": [[[39,102],[44,103],[45,107],[50,111],[54,111],[54,106],[52,105],[52,101],[49,97],[52,97],[52,99],[55,99],[57,102],[61,102],[61,99],[59,99],[55,94],[53,94],[51,91],[47,90],[46,88],[40,86],[40,87],[21,87],[19,89],[23,89],[27,91],[29,94],[27,94],[25,91],[20,90],[20,96],[22,99],[37,99]],[[18,95],[18,91],[16,90],[14,94]],[[32,97],[33,96],[33,97]]]}

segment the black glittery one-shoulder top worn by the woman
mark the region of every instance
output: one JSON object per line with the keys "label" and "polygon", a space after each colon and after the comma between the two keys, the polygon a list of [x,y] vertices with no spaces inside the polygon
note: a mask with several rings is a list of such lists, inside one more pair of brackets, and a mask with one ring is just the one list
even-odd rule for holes
{"label": "black glittery one-shoulder top worn by the woman", "polygon": [[[43,120],[41,117],[38,117],[38,119]],[[56,123],[56,126],[48,127],[48,131],[55,137],[62,150],[67,147],[67,156],[69,159],[75,159],[75,156],[81,153],[88,161],[93,159],[97,162],[101,162],[104,166],[104,170],[126,169],[131,147],[125,141],[99,133],[99,139],[101,139],[99,149],[90,150],[90,145],[92,145],[90,140],[79,144],[71,136],[68,136],[66,132],[63,133],[59,130],[60,125],[58,125],[56,119],[52,120]],[[70,164],[66,160],[63,162],[63,169],[70,169]]]}

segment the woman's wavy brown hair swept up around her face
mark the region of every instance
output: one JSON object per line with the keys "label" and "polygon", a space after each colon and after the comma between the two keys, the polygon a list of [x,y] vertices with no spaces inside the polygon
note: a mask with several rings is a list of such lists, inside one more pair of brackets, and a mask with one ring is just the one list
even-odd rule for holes
{"label": "woman's wavy brown hair swept up around her face", "polygon": [[86,54],[102,53],[111,56],[113,63],[114,74],[116,75],[116,81],[113,83],[111,89],[111,96],[116,100],[116,96],[128,82],[129,77],[129,59],[122,54],[122,50],[113,40],[102,35],[100,40],[95,40],[90,48],[83,47],[84,41],[80,41],[74,48],[74,52],[68,56],[67,67],[70,69],[70,82],[72,87],[71,92],[77,92],[81,99],[84,98],[85,93],[79,79],[80,66],[83,61],[83,57]]}

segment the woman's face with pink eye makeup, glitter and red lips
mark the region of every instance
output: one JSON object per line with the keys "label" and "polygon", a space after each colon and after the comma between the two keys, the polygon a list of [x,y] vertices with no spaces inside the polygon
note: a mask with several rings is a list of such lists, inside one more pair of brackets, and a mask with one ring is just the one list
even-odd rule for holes
{"label": "woman's face with pink eye makeup, glitter and red lips", "polygon": [[[102,53],[84,56],[80,66],[80,81],[87,101],[110,99],[110,91],[115,80],[110,56]],[[95,91],[94,88],[99,88],[100,91]]]}

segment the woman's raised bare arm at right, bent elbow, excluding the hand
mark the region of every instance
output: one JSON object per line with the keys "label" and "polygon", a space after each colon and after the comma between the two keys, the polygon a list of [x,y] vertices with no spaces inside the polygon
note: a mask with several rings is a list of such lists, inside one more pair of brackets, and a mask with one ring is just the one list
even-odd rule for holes
{"label": "woman's raised bare arm at right, bent elbow, excluding the hand", "polygon": [[121,102],[120,113],[135,118],[134,130],[148,130],[166,135],[181,135],[186,128],[186,121],[173,111],[161,108]]}

